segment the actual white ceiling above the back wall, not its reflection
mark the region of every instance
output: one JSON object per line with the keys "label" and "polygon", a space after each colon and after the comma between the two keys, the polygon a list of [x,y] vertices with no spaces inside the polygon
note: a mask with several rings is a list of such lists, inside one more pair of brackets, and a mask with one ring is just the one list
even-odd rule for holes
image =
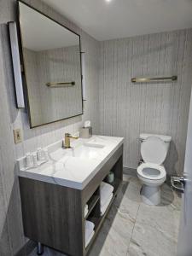
{"label": "actual white ceiling above the back wall, not its reflection", "polygon": [[97,40],[192,27],[192,0],[43,0]]}

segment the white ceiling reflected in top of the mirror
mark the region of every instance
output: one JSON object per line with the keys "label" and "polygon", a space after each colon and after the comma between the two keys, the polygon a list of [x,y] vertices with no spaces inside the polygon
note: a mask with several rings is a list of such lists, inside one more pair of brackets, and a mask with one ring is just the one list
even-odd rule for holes
{"label": "white ceiling reflected in top of the mirror", "polygon": [[20,28],[22,44],[26,49],[41,51],[79,45],[76,34],[24,3],[20,3]]}

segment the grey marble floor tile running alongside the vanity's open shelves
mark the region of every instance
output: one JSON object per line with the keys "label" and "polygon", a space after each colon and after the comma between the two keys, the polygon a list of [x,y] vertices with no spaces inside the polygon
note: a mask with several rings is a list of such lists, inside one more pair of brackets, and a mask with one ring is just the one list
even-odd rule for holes
{"label": "grey marble floor tile running alongside the vanity's open shelves", "polygon": [[123,183],[108,218],[91,248],[90,256],[124,256],[127,253],[139,207],[135,183]]}

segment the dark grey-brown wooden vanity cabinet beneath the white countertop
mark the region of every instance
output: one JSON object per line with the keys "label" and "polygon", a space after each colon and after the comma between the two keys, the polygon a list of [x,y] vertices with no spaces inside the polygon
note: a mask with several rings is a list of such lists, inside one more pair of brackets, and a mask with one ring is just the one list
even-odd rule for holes
{"label": "dark grey-brown wooden vanity cabinet beneath the white countertop", "polygon": [[[114,173],[114,199],[122,182],[123,145],[82,190],[20,177],[25,236],[71,256],[87,255],[113,203],[112,199],[107,211],[101,217],[99,186],[110,171]],[[89,212],[84,217],[86,203],[89,205]],[[95,235],[85,248],[86,218],[94,222]]]}

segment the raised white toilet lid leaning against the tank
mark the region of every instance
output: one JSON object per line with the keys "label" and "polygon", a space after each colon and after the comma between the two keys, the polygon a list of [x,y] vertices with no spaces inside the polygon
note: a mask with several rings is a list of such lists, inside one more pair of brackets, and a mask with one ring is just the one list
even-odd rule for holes
{"label": "raised white toilet lid leaning against the tank", "polygon": [[166,143],[159,137],[148,137],[141,144],[141,154],[145,163],[161,165],[166,160]]}

